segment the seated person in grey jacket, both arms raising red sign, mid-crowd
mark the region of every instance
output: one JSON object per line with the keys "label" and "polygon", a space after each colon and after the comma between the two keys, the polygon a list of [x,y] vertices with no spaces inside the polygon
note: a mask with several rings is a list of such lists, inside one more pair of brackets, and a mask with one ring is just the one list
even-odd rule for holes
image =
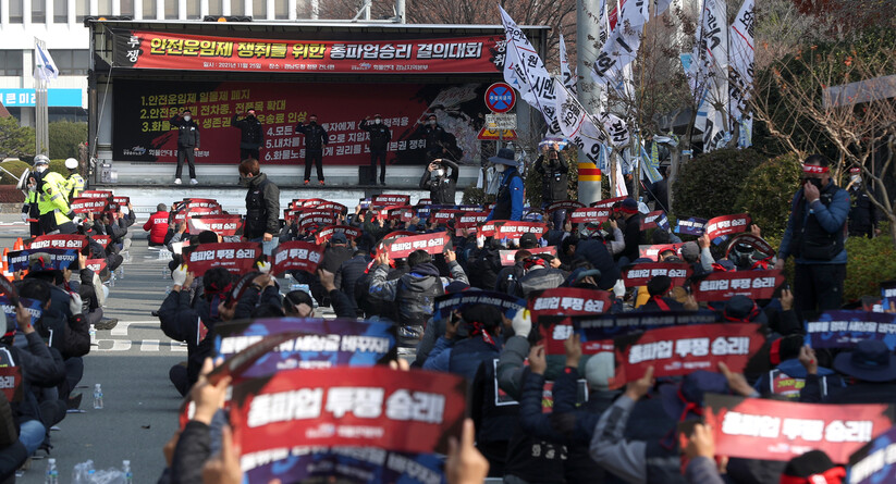
{"label": "seated person in grey jacket, both arms raising red sign, mid-crowd", "polygon": [[377,256],[377,269],[370,280],[369,293],[377,299],[396,302],[400,342],[405,339],[405,345],[416,346],[419,343],[424,326],[432,317],[435,298],[445,294],[445,287],[452,280],[469,284],[464,269],[457,263],[457,256],[451,250],[444,253],[451,277],[440,277],[432,256],[426,250],[415,250],[407,257],[410,271],[392,281],[386,281],[389,253],[383,250]]}

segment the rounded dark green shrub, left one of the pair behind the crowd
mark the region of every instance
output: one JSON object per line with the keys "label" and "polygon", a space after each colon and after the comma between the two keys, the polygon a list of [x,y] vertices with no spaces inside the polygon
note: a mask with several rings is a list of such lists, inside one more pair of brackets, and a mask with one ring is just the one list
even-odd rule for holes
{"label": "rounded dark green shrub, left one of the pair behind the crowd", "polygon": [[675,213],[682,216],[713,216],[739,213],[737,197],[751,189],[749,173],[763,157],[751,149],[716,150],[682,165],[673,189]]}

